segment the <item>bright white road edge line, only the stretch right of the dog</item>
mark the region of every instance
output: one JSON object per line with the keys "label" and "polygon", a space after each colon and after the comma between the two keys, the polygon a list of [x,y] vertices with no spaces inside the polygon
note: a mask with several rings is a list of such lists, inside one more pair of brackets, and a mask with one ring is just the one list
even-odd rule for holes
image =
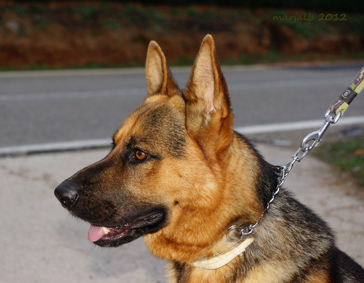
{"label": "bright white road edge line, only the stretch right of the dog", "polygon": [[[261,134],[261,133],[319,128],[323,124],[323,122],[324,119],[320,119],[311,121],[236,127],[235,130],[241,134]],[[364,123],[364,116],[341,117],[340,120],[337,121],[335,125],[347,126],[347,125],[363,124],[363,123]]]}

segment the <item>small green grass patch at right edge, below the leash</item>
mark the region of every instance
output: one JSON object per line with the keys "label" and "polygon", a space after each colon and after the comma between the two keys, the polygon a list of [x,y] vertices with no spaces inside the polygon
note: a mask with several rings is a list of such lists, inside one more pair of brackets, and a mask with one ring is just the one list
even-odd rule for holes
{"label": "small green grass patch at right edge, below the leash", "polygon": [[358,184],[364,186],[364,137],[331,142],[317,148],[316,156],[338,166],[344,172],[358,178]]}

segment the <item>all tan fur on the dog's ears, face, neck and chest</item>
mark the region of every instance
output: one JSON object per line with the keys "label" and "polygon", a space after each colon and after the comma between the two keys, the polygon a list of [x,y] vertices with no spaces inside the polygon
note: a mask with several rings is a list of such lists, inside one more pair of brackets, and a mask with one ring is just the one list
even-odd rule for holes
{"label": "all tan fur on the dog's ears, face, neck and chest", "polygon": [[[139,198],[163,199],[173,207],[168,224],[146,234],[144,241],[153,255],[177,262],[189,263],[229,251],[232,243],[226,241],[225,235],[232,221],[242,218],[245,223],[254,223],[263,207],[254,189],[257,160],[252,149],[233,133],[228,92],[212,37],[206,36],[201,44],[183,92],[185,99],[175,87],[161,49],[153,41],[149,45],[146,76],[150,96],[115,134],[114,151],[118,152],[128,137],[143,132],[143,117],[161,105],[170,106],[176,117],[186,119],[187,143],[183,159],[164,157],[157,173],[151,169],[148,183],[135,186],[133,193]],[[147,143],[145,149],[152,150]],[[178,205],[173,206],[176,201]],[[237,260],[217,270],[190,266],[186,282],[226,282]],[[254,268],[237,282],[277,283],[288,280],[295,271],[292,262],[270,262]],[[169,271],[169,275],[170,282],[177,282],[174,271]],[[319,278],[312,276],[312,280]]]}

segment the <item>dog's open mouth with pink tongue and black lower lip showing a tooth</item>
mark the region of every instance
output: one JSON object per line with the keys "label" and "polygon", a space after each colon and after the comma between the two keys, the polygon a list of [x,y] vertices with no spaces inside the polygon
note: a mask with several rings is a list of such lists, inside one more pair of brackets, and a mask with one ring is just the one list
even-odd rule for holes
{"label": "dog's open mouth with pink tongue and black lower lip showing a tooth", "polygon": [[88,240],[102,247],[119,246],[158,230],[160,226],[158,224],[163,221],[163,218],[164,214],[161,211],[154,211],[120,226],[103,227],[91,224]]}

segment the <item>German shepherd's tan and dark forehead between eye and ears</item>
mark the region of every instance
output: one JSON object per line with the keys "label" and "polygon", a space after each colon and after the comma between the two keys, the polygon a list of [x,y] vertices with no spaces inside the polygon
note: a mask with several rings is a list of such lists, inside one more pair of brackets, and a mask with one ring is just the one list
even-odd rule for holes
{"label": "German shepherd's tan and dark forehead between eye and ears", "polygon": [[125,120],[116,132],[118,145],[133,140],[148,147],[182,156],[186,143],[185,114],[169,99],[148,99]]}

